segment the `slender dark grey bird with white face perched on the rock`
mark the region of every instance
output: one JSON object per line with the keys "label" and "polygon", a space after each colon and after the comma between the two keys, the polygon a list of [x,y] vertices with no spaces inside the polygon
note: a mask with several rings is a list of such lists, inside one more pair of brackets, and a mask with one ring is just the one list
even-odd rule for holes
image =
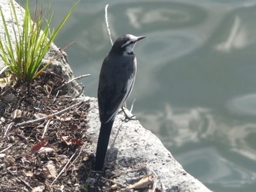
{"label": "slender dark grey bird with white face perched on the rock", "polygon": [[98,106],[101,122],[95,171],[102,171],[111,129],[118,110],[124,106],[135,82],[137,60],[133,53],[136,42],[145,36],[125,34],[118,37],[105,57],[99,73]]}

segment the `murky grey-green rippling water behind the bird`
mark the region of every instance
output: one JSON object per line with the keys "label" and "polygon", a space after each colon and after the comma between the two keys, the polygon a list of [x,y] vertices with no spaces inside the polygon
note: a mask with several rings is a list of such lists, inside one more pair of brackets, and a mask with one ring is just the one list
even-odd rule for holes
{"label": "murky grey-green rippling water behind the bird", "polygon": [[[74,3],[52,2],[53,26]],[[75,40],[66,51],[75,76],[91,74],[89,96],[110,50],[106,3],[113,39],[146,35],[128,102],[140,123],[212,191],[255,191],[256,1],[83,0],[55,43]]]}

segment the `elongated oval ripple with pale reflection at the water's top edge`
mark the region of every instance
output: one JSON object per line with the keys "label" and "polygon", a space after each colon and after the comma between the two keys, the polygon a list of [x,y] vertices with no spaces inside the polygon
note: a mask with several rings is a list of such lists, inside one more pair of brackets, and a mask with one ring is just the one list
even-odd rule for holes
{"label": "elongated oval ripple with pale reflection at the water's top edge", "polygon": [[143,31],[148,32],[195,26],[207,18],[206,11],[200,7],[171,1],[151,2],[150,4],[148,2],[123,2],[113,4],[110,12],[111,15],[124,15],[125,13],[121,16],[122,18],[118,18],[123,20],[121,28],[127,28],[127,26],[138,30],[143,28]]}

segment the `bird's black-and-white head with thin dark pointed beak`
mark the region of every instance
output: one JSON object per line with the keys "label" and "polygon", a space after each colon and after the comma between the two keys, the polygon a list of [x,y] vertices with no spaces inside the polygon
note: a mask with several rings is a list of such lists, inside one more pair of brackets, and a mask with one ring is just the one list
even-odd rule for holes
{"label": "bird's black-and-white head with thin dark pointed beak", "polygon": [[136,42],[140,41],[140,39],[144,39],[145,36],[135,37],[132,34],[125,34],[121,37],[116,39],[114,42],[112,50],[116,53],[122,53],[126,55],[130,55],[133,53],[133,47],[135,46]]}

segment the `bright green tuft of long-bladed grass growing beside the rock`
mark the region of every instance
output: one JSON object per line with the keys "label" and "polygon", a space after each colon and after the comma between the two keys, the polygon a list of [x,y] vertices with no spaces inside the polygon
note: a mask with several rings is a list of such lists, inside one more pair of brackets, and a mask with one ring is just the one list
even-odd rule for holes
{"label": "bright green tuft of long-bladed grass growing beside the rock", "polygon": [[[18,25],[18,17],[13,1],[10,0],[13,22],[12,28],[9,30],[12,30],[15,34],[15,46],[12,45],[10,32],[0,7],[1,18],[6,34],[5,39],[0,37],[0,57],[5,64],[9,66],[10,73],[14,75],[17,83],[31,82],[31,80],[37,77],[37,75],[50,64],[49,62],[45,66],[42,66],[42,58],[45,53],[48,52],[51,43],[69,18],[73,9],[78,5],[79,1],[69,10],[59,26],[50,31],[53,13],[50,13],[48,16],[43,15],[42,6],[40,7],[39,13],[37,13],[36,2],[32,19],[29,11],[29,0],[26,0],[23,25],[20,27]],[[15,26],[14,23],[17,23],[17,26]]]}

